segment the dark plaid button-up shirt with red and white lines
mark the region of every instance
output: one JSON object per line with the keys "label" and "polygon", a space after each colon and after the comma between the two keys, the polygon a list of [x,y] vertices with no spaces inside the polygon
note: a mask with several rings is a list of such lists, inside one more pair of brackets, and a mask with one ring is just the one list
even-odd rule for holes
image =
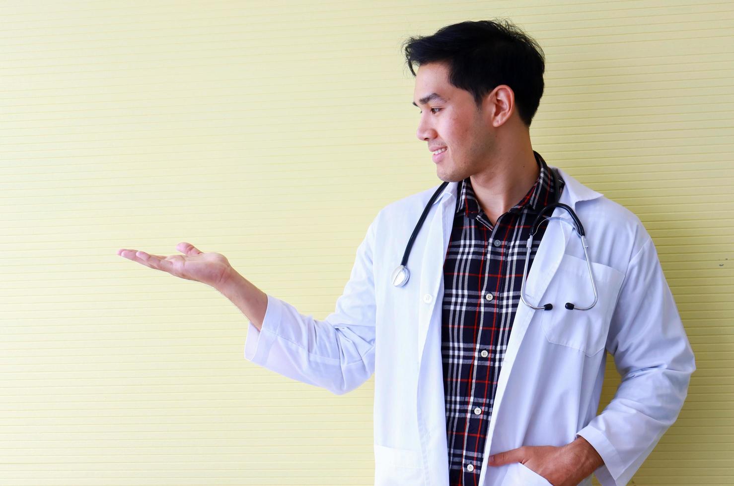
{"label": "dark plaid button-up shirt with red and white lines", "polygon": [[[538,180],[494,226],[479,207],[468,177],[457,200],[443,265],[441,329],[452,486],[479,482],[497,380],[520,304],[526,240],[537,211],[556,200],[551,169],[533,153]],[[546,226],[533,237],[528,271]]]}

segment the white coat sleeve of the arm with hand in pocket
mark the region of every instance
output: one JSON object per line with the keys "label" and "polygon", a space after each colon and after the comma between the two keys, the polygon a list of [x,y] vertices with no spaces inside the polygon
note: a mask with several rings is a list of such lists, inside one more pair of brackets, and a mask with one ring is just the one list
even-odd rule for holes
{"label": "white coat sleeve of the arm with hand in pocket", "polygon": [[647,232],[644,237],[628,264],[606,342],[622,383],[578,432],[604,460],[595,471],[603,486],[630,481],[677,418],[696,369],[655,246]]}

